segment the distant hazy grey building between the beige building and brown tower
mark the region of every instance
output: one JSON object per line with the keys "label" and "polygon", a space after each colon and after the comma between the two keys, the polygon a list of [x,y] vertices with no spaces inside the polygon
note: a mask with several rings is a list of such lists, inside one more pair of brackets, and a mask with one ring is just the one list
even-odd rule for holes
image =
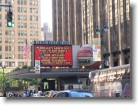
{"label": "distant hazy grey building between the beige building and brown tower", "polygon": [[50,31],[48,23],[43,24],[42,36],[44,41],[53,41],[52,32]]}

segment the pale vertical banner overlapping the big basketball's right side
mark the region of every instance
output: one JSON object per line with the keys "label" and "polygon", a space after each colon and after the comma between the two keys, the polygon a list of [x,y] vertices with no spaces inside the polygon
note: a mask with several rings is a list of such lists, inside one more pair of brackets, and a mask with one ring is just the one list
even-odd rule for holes
{"label": "pale vertical banner overlapping the big basketball's right side", "polygon": [[93,39],[93,61],[101,61],[101,39]]}

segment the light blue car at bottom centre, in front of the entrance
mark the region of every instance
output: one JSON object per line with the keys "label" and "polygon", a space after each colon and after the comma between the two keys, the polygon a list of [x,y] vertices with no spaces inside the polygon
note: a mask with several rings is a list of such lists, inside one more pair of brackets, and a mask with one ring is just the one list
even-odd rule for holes
{"label": "light blue car at bottom centre, in front of the entrance", "polygon": [[90,91],[64,90],[58,92],[54,97],[94,97]]}

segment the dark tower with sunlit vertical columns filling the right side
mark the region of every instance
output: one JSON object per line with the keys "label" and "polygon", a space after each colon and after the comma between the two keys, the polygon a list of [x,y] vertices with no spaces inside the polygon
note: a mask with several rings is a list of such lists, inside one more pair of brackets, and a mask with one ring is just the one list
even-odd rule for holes
{"label": "dark tower with sunlit vertical columns filling the right side", "polygon": [[110,66],[129,64],[132,36],[130,0],[82,0],[83,39],[86,38],[86,20],[88,43],[101,38],[102,61],[109,61]]}

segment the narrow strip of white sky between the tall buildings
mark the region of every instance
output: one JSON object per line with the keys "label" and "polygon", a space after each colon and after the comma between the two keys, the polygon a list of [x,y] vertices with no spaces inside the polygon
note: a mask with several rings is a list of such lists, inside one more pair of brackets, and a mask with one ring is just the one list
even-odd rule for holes
{"label": "narrow strip of white sky between the tall buildings", "polygon": [[50,30],[52,30],[52,0],[41,1],[41,26],[43,23],[48,23]]}

